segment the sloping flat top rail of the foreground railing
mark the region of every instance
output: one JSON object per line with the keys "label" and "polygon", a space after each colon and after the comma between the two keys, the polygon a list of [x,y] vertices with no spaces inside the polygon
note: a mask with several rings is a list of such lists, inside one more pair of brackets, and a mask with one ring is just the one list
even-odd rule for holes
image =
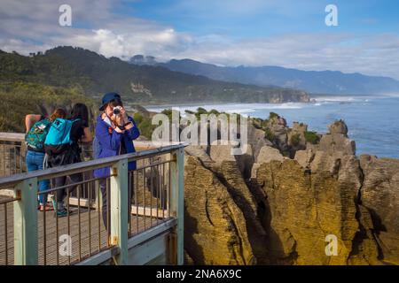
{"label": "sloping flat top rail of the foreground railing", "polygon": [[83,161],[76,164],[57,166],[54,168],[49,168],[41,171],[19,173],[12,176],[0,178],[0,189],[13,187],[14,185],[20,183],[21,181],[30,178],[37,178],[37,180],[46,180],[46,179],[74,174],[77,172],[82,172],[82,169],[94,170],[98,168],[108,167],[114,164],[115,162],[121,161],[123,159],[128,159],[128,161],[130,162],[138,159],[143,159],[145,157],[153,157],[160,154],[169,153],[175,149],[182,149],[187,145],[188,145],[187,142],[180,142],[165,147],[160,147],[156,149],[146,149],[116,157],[98,158],[90,161]]}

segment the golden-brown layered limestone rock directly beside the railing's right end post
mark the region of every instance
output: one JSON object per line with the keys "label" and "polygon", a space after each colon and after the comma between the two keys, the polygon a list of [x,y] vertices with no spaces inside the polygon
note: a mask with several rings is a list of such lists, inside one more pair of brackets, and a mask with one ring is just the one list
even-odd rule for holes
{"label": "golden-brown layered limestone rock directly beside the railing's right end post", "polygon": [[215,173],[192,156],[184,170],[184,249],[194,264],[255,262],[244,213]]}

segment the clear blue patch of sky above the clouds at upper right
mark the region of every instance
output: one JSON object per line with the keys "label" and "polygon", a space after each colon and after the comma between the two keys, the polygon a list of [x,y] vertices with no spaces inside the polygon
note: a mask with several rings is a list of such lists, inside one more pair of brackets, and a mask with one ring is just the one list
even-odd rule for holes
{"label": "clear blue patch of sky above the clouds at upper right", "polygon": [[[228,7],[228,3],[231,4]],[[269,4],[275,2],[278,4]],[[325,6],[335,4],[339,27],[325,26]],[[264,37],[280,33],[397,32],[399,1],[137,1],[127,4],[135,17],[152,19],[199,36],[225,33],[232,38]]]}

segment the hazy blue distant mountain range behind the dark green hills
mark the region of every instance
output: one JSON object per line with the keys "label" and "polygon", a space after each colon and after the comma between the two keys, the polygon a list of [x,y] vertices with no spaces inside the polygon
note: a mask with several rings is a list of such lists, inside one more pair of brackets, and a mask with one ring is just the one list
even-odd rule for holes
{"label": "hazy blue distant mountain range behind the dark green hills", "polygon": [[[154,58],[151,57],[154,65]],[[131,63],[137,64],[135,60]],[[145,57],[140,60],[145,65]],[[223,80],[251,84],[261,87],[303,89],[313,94],[332,95],[371,95],[399,92],[399,81],[387,77],[366,76],[361,73],[341,73],[337,71],[301,71],[278,66],[237,66],[223,67],[205,64],[192,59],[172,59],[157,65],[171,71],[206,76],[213,80]]]}

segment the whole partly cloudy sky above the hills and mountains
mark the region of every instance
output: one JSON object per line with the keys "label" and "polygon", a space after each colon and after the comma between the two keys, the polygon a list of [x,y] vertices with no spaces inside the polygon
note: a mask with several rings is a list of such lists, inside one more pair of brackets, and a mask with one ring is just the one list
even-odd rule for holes
{"label": "whole partly cloudy sky above the hills and mountains", "polygon": [[[71,26],[59,25],[61,4]],[[338,26],[328,27],[328,4]],[[396,0],[0,0],[0,50],[78,46],[216,65],[278,65],[399,80]]]}

